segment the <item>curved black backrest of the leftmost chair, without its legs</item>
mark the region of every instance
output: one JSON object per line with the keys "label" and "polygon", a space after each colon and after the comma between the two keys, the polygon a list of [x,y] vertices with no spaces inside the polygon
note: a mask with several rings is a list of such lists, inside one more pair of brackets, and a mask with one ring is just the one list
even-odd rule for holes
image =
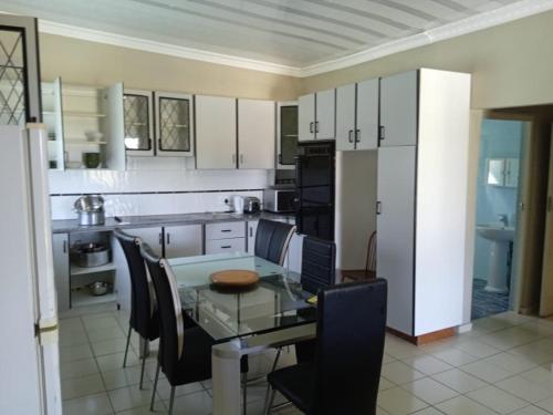
{"label": "curved black backrest of the leftmost chair, without its legs", "polygon": [[[155,297],[140,255],[142,240],[119,229],[114,231],[128,264],[131,277],[131,326],[144,339],[152,339],[150,319],[155,308]],[[157,338],[157,333],[154,339]]]}

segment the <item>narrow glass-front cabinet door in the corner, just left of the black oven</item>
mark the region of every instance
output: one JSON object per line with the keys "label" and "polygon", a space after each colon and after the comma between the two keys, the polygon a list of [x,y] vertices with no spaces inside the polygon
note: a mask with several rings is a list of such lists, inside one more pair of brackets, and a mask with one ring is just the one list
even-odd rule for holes
{"label": "narrow glass-front cabinet door in the corner, just left of the black oven", "polygon": [[298,102],[279,102],[276,117],[276,166],[293,169],[298,155]]}

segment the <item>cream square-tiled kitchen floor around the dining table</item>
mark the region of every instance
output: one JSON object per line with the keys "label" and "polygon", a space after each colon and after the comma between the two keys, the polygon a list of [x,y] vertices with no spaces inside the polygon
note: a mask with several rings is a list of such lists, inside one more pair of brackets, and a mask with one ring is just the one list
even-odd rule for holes
{"label": "cream square-tiled kitchen floor around the dining table", "polygon": [[[137,340],[123,370],[127,317],[102,308],[81,310],[61,321],[64,414],[148,414],[155,344],[146,390],[138,390]],[[288,363],[293,360],[290,353]],[[252,359],[263,372],[270,356]],[[553,414],[553,320],[504,312],[474,321],[472,331],[444,342],[414,346],[386,338],[379,415]],[[249,388],[250,415],[261,414],[265,384]],[[166,412],[169,386],[161,381],[157,413]],[[210,382],[180,387],[175,413],[207,415]],[[288,407],[276,414],[299,414]]]}

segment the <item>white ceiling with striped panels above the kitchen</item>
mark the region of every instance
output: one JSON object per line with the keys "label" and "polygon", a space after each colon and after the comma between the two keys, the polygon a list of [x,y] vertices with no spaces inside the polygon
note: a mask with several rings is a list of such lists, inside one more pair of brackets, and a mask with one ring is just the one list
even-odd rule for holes
{"label": "white ceiling with striped panels above the kitchen", "polygon": [[299,69],[515,3],[532,0],[2,0],[0,9]]}

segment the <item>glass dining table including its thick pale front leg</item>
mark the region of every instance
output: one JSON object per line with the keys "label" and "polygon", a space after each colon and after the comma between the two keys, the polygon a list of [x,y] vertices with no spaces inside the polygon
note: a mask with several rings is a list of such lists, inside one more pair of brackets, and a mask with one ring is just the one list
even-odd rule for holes
{"label": "glass dining table including its thick pale front leg", "polygon": [[[168,260],[182,308],[209,333],[212,347],[213,415],[239,415],[240,359],[269,347],[315,335],[316,309],[307,300],[300,274],[247,253],[217,253]],[[213,272],[255,271],[250,288],[222,289],[211,283]],[[186,339],[185,339],[186,341]]]}

